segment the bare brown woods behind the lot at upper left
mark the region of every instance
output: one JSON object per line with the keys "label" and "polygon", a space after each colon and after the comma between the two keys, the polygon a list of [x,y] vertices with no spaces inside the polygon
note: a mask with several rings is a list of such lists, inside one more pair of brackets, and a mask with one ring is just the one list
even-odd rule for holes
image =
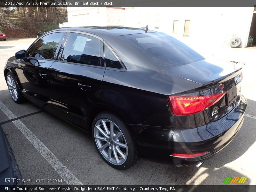
{"label": "bare brown woods behind the lot at upper left", "polygon": [[0,7],[0,28],[11,37],[35,36],[37,31],[58,28],[66,18],[67,7]]}

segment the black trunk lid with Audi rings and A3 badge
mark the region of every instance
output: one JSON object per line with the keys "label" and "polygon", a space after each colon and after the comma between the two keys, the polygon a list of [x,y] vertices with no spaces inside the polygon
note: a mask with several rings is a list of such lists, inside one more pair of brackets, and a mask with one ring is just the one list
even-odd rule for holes
{"label": "black trunk lid with Audi rings and A3 badge", "polygon": [[241,99],[241,69],[236,63],[211,59],[163,70],[202,84],[204,95],[226,92],[216,104],[206,109],[210,121],[216,121],[228,114]]}

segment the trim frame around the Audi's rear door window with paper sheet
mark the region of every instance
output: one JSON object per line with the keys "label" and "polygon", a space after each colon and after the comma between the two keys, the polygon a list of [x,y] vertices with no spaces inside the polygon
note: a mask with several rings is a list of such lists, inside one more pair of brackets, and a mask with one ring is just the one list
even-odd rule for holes
{"label": "trim frame around the Audi's rear door window with paper sheet", "polygon": [[[97,38],[97,39],[100,40],[100,43],[103,44],[103,39],[102,39],[101,37],[99,37],[99,36],[94,35],[94,34],[86,33],[86,32],[83,32],[83,31],[68,30],[66,36],[64,37],[63,42],[61,43],[61,46],[63,47],[63,49],[62,49],[62,51],[59,53],[59,55],[58,55],[58,57],[57,57],[56,60],[57,60],[58,62],[62,62],[62,63],[68,63],[68,64],[73,64],[73,65],[81,65],[81,66],[87,66],[87,67],[94,67],[94,68],[104,68],[104,69],[105,69],[105,68],[106,68],[106,67],[105,67],[105,66],[106,66],[106,65],[105,65],[105,59],[104,59],[104,63],[103,63],[104,66],[95,66],[95,65],[88,65],[88,64],[83,64],[83,63],[74,63],[74,62],[69,62],[69,61],[60,60],[60,58],[61,58],[61,56],[62,56],[62,54],[63,54],[63,51],[64,51],[64,49],[65,49],[66,43],[68,42],[68,37],[69,37],[69,35],[70,35],[71,33],[79,33],[79,34],[83,34],[83,35],[88,35],[88,36],[95,37],[95,38]],[[100,52],[100,53],[101,53],[101,52]],[[103,46],[103,53],[104,53],[104,46]],[[100,57],[105,58],[104,55],[100,55]]]}

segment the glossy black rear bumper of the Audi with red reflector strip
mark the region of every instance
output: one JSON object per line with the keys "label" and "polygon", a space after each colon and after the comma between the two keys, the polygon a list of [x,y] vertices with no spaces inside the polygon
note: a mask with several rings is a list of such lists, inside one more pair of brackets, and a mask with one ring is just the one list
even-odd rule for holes
{"label": "glossy black rear bumper of the Audi with red reflector strip", "polygon": [[[136,137],[140,153],[142,156],[179,166],[204,162],[234,139],[242,127],[246,107],[247,100],[242,97],[236,107],[221,119],[186,130],[177,130],[174,127],[140,127],[141,131]],[[137,126],[131,127],[136,130]],[[204,151],[208,153],[192,158],[172,156],[172,153],[196,154]]]}

